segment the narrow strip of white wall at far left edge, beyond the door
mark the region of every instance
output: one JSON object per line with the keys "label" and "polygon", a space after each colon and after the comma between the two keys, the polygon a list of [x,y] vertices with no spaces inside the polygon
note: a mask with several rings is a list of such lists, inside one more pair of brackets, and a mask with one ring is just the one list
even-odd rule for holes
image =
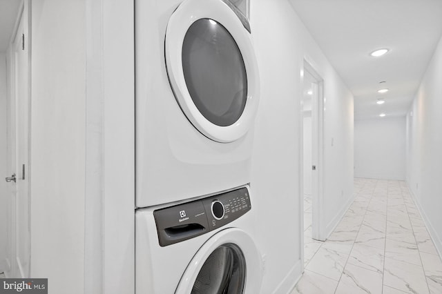
{"label": "narrow strip of white wall at far left edge, beyond the door", "polygon": [[6,90],[6,54],[0,52],[0,273],[6,270],[6,242],[8,219],[8,100]]}

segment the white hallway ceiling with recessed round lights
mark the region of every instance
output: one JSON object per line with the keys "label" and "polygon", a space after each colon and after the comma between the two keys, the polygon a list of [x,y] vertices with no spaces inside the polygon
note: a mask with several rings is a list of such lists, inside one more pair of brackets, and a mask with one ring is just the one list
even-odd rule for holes
{"label": "white hallway ceiling with recessed round lights", "polygon": [[[355,119],[406,114],[442,35],[442,0],[289,1],[352,91]],[[390,51],[369,55],[379,48]]]}

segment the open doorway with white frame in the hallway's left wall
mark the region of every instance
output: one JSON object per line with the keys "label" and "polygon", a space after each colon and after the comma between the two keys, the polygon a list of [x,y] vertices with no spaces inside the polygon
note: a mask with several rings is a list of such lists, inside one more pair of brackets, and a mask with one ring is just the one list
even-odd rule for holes
{"label": "open doorway with white frame in the hallway's left wall", "polygon": [[304,61],[302,75],[304,265],[325,241],[323,224],[323,79]]}

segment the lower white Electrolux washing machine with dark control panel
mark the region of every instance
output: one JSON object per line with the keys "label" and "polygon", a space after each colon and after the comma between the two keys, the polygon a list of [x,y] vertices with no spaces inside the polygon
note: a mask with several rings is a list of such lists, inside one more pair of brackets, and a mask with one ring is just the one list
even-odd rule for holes
{"label": "lower white Electrolux washing machine with dark control panel", "polygon": [[135,293],[260,293],[249,186],[135,219]]}

